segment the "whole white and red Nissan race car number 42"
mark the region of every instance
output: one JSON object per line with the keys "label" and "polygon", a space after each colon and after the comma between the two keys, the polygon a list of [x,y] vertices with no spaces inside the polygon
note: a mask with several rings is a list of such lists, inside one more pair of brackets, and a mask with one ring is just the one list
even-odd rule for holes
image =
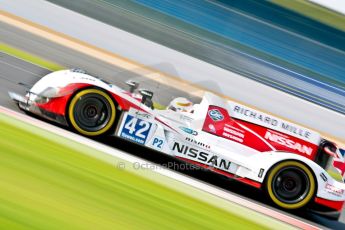
{"label": "whole white and red Nissan race car number 42", "polygon": [[315,131],[206,92],[190,111],[154,109],[153,93],[123,90],[79,69],[41,78],[20,109],[89,137],[114,135],[263,189],[283,209],[338,218],[344,157]]}

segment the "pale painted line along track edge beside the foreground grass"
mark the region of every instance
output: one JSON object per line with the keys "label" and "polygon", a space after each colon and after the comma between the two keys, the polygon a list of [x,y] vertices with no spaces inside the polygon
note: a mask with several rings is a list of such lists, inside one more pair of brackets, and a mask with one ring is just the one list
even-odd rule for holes
{"label": "pale painted line along track edge beside the foreground grass", "polygon": [[182,175],[182,174],[175,172],[175,171],[172,171],[170,169],[163,168],[163,167],[161,167],[157,164],[154,164],[152,162],[145,161],[145,160],[140,159],[138,157],[132,156],[128,153],[125,153],[125,152],[122,152],[120,150],[111,148],[109,146],[106,146],[104,144],[90,140],[90,139],[85,138],[83,136],[71,133],[67,130],[53,126],[51,124],[47,124],[43,121],[40,121],[40,120],[37,120],[35,118],[26,116],[22,113],[18,113],[14,110],[10,110],[10,109],[5,108],[3,106],[0,106],[0,113],[14,117],[20,121],[29,123],[31,125],[39,127],[39,128],[44,129],[46,131],[49,131],[49,132],[52,132],[54,134],[63,136],[63,137],[68,138],[72,141],[78,142],[78,143],[83,144],[85,146],[89,146],[90,148],[94,148],[98,151],[104,152],[105,154],[123,159],[125,161],[131,162],[131,163],[153,165],[154,167],[150,167],[150,169],[152,169],[156,173],[159,173],[159,174],[164,175],[166,177],[172,178],[172,179],[177,180],[179,182],[182,182],[184,184],[190,185],[194,188],[197,188],[197,189],[202,190],[204,192],[210,193],[212,195],[218,196],[218,197],[225,199],[227,201],[230,201],[230,202],[236,203],[238,205],[241,205],[243,207],[249,208],[249,209],[254,210],[258,213],[270,216],[270,217],[277,219],[279,221],[288,223],[294,227],[301,228],[301,229],[321,229],[317,226],[312,225],[311,223],[304,222],[303,220],[297,219],[293,216],[280,213],[280,212],[275,211],[275,210],[268,208],[268,207],[264,207],[260,204],[254,203],[250,200],[246,200],[244,198],[241,198],[239,196],[231,194],[231,193],[229,193],[223,189],[216,188],[215,186],[205,184],[205,182],[202,182],[202,181],[199,181],[197,179],[188,177],[186,175]]}

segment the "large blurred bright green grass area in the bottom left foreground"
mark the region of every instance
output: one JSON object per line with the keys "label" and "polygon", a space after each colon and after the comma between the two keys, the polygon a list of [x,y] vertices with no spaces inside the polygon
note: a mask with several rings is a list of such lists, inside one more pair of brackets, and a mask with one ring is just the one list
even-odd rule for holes
{"label": "large blurred bright green grass area in the bottom left foreground", "polygon": [[4,114],[0,159],[0,229],[289,227]]}

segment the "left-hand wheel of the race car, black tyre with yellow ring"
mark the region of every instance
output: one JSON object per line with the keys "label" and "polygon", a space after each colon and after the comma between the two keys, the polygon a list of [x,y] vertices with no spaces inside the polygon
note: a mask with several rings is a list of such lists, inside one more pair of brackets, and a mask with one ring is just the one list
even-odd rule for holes
{"label": "left-hand wheel of the race car, black tyre with yellow ring", "polygon": [[73,96],[68,106],[71,126],[85,136],[100,136],[115,122],[116,109],[111,97],[99,89],[84,89]]}

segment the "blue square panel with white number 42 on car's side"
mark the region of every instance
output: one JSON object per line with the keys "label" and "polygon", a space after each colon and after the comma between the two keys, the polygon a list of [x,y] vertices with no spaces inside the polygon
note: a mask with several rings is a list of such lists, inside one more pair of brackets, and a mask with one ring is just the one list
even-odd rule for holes
{"label": "blue square panel with white number 42 on car's side", "polygon": [[120,136],[143,145],[149,135],[151,126],[150,122],[128,114]]}

